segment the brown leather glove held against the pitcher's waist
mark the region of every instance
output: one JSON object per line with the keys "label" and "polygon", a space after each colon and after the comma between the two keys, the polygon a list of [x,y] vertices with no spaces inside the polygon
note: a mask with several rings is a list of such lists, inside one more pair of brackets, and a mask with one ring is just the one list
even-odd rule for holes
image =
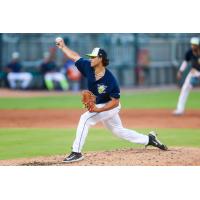
{"label": "brown leather glove held against the pitcher's waist", "polygon": [[84,104],[85,108],[87,108],[90,111],[91,108],[94,108],[96,103],[95,95],[89,90],[83,90],[82,103]]}

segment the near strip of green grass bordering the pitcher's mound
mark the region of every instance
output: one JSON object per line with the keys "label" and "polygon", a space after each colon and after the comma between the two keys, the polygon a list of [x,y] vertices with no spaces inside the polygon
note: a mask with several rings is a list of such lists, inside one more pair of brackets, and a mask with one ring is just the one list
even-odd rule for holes
{"label": "near strip of green grass bordering the pitcher's mound", "polygon": [[[137,129],[147,133],[149,129]],[[200,147],[198,129],[158,129],[168,146]],[[0,129],[0,160],[69,153],[75,129]],[[84,151],[142,147],[113,136],[104,129],[91,129]]]}

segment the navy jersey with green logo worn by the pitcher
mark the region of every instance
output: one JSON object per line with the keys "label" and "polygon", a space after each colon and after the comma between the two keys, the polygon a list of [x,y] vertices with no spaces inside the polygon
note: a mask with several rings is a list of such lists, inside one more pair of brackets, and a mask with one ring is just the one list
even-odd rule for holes
{"label": "navy jersey with green logo worn by the pitcher", "polygon": [[120,89],[113,74],[106,69],[104,76],[96,80],[94,68],[87,59],[80,58],[75,63],[78,70],[87,78],[88,90],[96,96],[96,104],[107,103],[112,98],[120,98]]}

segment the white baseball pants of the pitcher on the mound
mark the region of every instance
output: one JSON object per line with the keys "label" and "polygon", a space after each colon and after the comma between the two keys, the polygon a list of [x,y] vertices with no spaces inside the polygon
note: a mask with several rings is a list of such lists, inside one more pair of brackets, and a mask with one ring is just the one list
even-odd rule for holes
{"label": "white baseball pants of the pitcher on the mound", "polygon": [[[98,104],[97,107],[103,107],[105,104]],[[140,134],[136,131],[126,129],[122,126],[121,119],[119,117],[119,111],[121,105],[112,110],[90,113],[89,111],[81,115],[80,121],[76,131],[76,138],[73,143],[73,152],[81,152],[85,139],[88,134],[90,126],[95,125],[98,122],[102,122],[104,126],[110,130],[114,135],[137,144],[147,145],[149,137],[147,135]]]}

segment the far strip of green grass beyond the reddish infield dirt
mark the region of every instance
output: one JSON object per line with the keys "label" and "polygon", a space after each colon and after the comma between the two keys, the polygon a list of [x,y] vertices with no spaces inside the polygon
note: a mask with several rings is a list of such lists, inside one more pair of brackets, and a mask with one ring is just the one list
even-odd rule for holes
{"label": "far strip of green grass beyond the reddish infield dirt", "polygon": [[[121,103],[123,108],[175,108],[179,90],[123,92]],[[187,108],[200,108],[200,92],[192,91]],[[32,98],[0,98],[0,109],[56,109],[82,108],[80,95],[32,97]]]}

